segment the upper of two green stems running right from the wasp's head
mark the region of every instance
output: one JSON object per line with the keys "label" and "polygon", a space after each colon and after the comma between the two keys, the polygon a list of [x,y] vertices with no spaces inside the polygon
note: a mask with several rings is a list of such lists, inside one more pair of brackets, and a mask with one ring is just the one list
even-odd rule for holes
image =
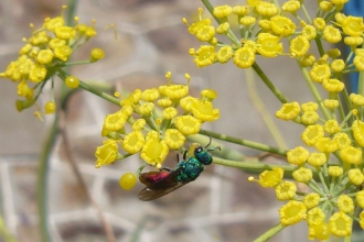
{"label": "upper of two green stems running right from the wasp's head", "polygon": [[239,144],[239,145],[244,145],[247,147],[253,147],[253,148],[256,148],[259,151],[265,151],[265,152],[269,152],[269,153],[277,154],[277,155],[286,156],[286,153],[287,153],[287,151],[282,150],[282,148],[272,147],[272,146],[269,146],[266,144],[257,143],[254,141],[247,141],[244,139],[237,139],[237,138],[228,136],[225,134],[215,133],[212,131],[200,130],[199,133],[203,134],[203,135],[206,135],[206,133],[208,133],[208,135],[211,135],[212,138],[221,140],[221,141],[226,141],[229,143]]}

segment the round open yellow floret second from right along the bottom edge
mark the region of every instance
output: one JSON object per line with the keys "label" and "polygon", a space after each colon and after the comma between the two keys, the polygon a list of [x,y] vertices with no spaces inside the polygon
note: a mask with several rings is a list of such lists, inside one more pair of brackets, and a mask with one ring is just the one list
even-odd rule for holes
{"label": "round open yellow floret second from right along the bottom edge", "polygon": [[329,219],[329,227],[335,237],[347,237],[352,234],[353,220],[344,212],[335,212]]}

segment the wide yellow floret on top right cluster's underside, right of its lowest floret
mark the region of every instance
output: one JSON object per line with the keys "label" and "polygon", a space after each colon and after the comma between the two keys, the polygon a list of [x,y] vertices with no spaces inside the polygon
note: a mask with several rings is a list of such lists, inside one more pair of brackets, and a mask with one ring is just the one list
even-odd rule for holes
{"label": "wide yellow floret on top right cluster's underside, right of its lowest floret", "polygon": [[283,52],[282,43],[279,43],[280,37],[269,33],[260,33],[257,40],[257,52],[265,57],[276,57]]}

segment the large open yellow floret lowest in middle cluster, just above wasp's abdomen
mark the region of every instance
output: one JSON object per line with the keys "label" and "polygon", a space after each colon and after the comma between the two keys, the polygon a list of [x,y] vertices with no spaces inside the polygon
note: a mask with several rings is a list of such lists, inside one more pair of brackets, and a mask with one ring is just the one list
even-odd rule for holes
{"label": "large open yellow floret lowest in middle cluster, just above wasp's abdomen", "polygon": [[[156,132],[156,131],[151,131]],[[157,134],[157,132],[156,132]],[[150,165],[158,166],[167,157],[169,147],[164,140],[159,140],[156,134],[148,135],[147,141],[141,150],[140,157]],[[158,135],[158,134],[157,134]]]}

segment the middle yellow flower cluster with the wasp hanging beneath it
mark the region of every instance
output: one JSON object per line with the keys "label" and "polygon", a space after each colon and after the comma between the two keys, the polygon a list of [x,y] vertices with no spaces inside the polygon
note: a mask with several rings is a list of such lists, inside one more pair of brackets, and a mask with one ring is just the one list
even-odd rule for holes
{"label": "middle yellow flower cluster with the wasp hanging beneath it", "polygon": [[[188,85],[172,84],[141,91],[136,89],[120,102],[121,109],[105,118],[101,135],[108,140],[96,150],[96,167],[140,152],[148,164],[161,167],[170,150],[180,150],[185,138],[196,134],[201,124],[220,118],[212,101],[217,94],[212,89],[201,92],[201,98],[189,96]],[[158,106],[158,107],[156,107]],[[120,154],[118,143],[121,144]]]}

